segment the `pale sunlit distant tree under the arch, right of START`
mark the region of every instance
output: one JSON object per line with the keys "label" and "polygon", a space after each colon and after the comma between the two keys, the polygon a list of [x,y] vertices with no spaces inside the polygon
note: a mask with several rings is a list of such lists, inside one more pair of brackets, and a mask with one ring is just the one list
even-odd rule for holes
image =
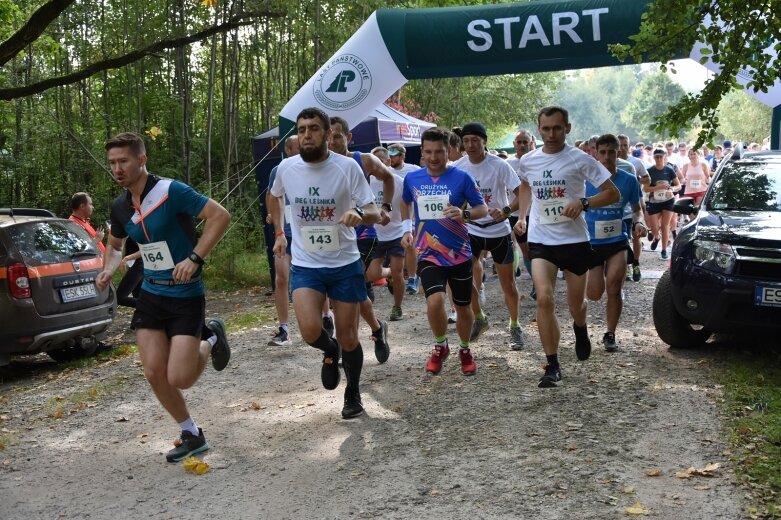
{"label": "pale sunlit distant tree under the arch, right of START", "polygon": [[684,95],[683,88],[664,72],[645,75],[632,93],[621,120],[642,132],[646,141],[657,134],[662,138],[679,137],[680,130],[670,134],[666,127],[659,127],[654,122]]}

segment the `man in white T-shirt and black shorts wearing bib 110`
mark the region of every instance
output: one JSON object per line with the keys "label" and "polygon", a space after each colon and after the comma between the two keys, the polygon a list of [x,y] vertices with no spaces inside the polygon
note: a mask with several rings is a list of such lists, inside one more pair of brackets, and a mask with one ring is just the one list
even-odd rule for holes
{"label": "man in white T-shirt and black shorts wearing bib 110", "polygon": [[[537,114],[537,127],[543,146],[521,158],[518,174],[523,181],[519,212],[529,212],[529,255],[532,278],[537,289],[537,326],[548,364],[540,379],[541,388],[561,381],[559,340],[561,332],[555,314],[556,274],[564,270],[567,303],[575,331],[575,352],[585,361],[591,355],[586,327],[586,273],[593,251],[583,212],[607,206],[619,194],[610,181],[610,172],[593,157],[566,143],[572,126],[569,113],[558,106],[545,107]],[[585,181],[598,186],[600,193],[585,197]],[[526,231],[519,220],[516,231]]]}

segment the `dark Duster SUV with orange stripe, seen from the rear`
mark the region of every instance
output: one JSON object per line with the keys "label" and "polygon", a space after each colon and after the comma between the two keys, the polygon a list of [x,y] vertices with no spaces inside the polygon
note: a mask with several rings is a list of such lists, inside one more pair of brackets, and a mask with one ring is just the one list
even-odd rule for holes
{"label": "dark Duster SUV with orange stripe, seen from the rear", "polygon": [[0,365],[46,352],[91,355],[114,317],[114,290],[98,291],[103,258],[78,224],[47,210],[0,208]]}

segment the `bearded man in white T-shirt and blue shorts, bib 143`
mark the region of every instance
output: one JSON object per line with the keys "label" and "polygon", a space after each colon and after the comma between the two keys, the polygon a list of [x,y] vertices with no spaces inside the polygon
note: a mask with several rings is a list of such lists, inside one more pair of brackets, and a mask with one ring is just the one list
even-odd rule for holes
{"label": "bearded man in white T-shirt and blue shorts, bib 143", "polygon": [[[364,268],[355,226],[374,224],[380,213],[358,164],[328,151],[332,132],[328,115],[318,108],[296,117],[299,155],[279,164],[271,187],[274,254],[284,255],[284,202],[290,200],[293,237],[290,285],[301,337],[323,351],[320,379],[333,390],[339,385],[339,353],[347,378],[342,417],[363,413],[360,377],[363,349],[358,341],[358,306],[367,299]],[[338,343],[323,328],[322,308],[331,299]]]}

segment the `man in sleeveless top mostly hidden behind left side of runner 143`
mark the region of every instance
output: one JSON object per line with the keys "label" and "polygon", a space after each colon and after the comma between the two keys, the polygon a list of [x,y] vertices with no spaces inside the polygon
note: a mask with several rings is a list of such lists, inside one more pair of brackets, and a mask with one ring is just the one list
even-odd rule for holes
{"label": "man in sleeveless top mostly hidden behind left side of runner 143", "polygon": [[[285,139],[285,157],[293,157],[298,155],[298,136],[291,135]],[[274,181],[277,178],[277,168],[279,165],[274,166],[271,170],[271,175],[268,178],[268,190],[266,190],[266,207],[269,207],[269,200],[271,199],[271,187],[274,185]],[[271,213],[268,214],[266,221],[271,222]],[[287,251],[285,255],[274,255],[274,306],[277,308],[277,319],[279,320],[278,332],[268,342],[269,345],[275,347],[281,347],[290,345],[290,329],[288,328],[288,316],[290,306],[290,246],[293,243],[293,239],[290,231],[290,220],[293,218],[293,214],[290,209],[290,200],[285,197],[285,238],[287,239]]]}

